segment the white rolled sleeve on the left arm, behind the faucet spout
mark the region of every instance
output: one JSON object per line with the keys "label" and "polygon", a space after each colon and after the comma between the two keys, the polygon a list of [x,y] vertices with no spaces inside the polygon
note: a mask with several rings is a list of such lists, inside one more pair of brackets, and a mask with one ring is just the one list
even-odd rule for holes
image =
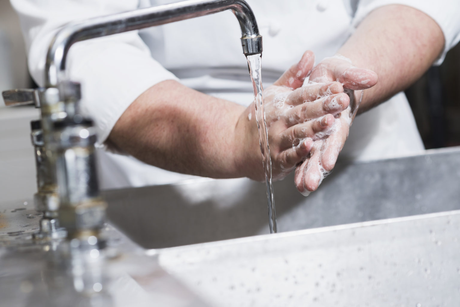
{"label": "white rolled sleeve on the left arm, behind the faucet spout", "polygon": [[[58,27],[138,8],[138,0],[11,0],[11,4],[21,20],[30,74],[40,86],[48,46]],[[178,80],[151,57],[137,31],[78,42],[70,48],[66,63],[70,80],[81,82],[81,112],[94,120],[99,144],[141,93],[161,81]]]}

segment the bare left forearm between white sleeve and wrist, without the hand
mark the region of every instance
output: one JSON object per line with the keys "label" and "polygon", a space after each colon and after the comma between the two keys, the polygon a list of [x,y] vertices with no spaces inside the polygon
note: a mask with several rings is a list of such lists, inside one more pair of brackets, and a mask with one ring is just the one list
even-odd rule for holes
{"label": "bare left forearm between white sleeve and wrist, without the hand", "polygon": [[[247,165],[242,160],[251,156],[243,145],[254,143],[253,139],[241,142],[246,127],[238,123],[244,110],[177,81],[163,81],[128,107],[109,141],[141,161],[179,173],[251,176],[253,170],[241,167]],[[252,147],[259,150],[257,143]],[[261,163],[258,166],[262,168]]]}

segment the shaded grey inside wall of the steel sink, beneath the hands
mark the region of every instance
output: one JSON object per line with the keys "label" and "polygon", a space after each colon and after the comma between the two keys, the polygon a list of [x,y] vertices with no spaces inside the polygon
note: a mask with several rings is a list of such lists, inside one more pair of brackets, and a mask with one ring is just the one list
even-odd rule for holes
{"label": "shaded grey inside wall of the steel sink, beneath the hands", "polygon": [[[281,232],[460,209],[460,148],[339,163],[302,196],[293,177],[276,182]],[[269,232],[265,185],[247,179],[106,191],[109,218],[144,248],[166,248]]]}

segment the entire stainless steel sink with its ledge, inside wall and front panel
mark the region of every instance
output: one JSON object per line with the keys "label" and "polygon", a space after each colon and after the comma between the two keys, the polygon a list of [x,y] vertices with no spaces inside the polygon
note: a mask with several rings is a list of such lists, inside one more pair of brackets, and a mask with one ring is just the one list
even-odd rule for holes
{"label": "entire stainless steel sink with its ledge, inside wall and front panel", "polygon": [[[250,180],[106,191],[112,222],[150,248],[107,227],[111,306],[459,306],[459,179],[459,148],[341,164],[309,197],[288,178],[275,185],[283,233],[261,236],[265,186]],[[30,244],[30,207],[0,204],[1,302],[75,306]]]}

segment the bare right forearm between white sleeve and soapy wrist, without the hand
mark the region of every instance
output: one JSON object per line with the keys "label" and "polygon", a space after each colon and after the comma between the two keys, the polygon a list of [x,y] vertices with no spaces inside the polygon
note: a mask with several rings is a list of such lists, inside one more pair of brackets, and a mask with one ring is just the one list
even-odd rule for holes
{"label": "bare right forearm between white sleeve and soapy wrist, without the hand", "polygon": [[380,7],[359,24],[338,53],[357,67],[374,70],[379,82],[364,90],[358,112],[404,90],[432,65],[443,50],[437,23],[414,8]]}

